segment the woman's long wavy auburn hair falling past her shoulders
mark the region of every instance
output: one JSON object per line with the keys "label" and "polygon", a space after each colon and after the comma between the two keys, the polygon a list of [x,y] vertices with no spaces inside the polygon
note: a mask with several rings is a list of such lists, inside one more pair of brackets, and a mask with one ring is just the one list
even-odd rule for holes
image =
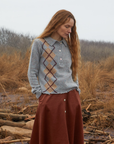
{"label": "woman's long wavy auburn hair falling past her shoulders", "polygon": [[78,73],[81,56],[80,56],[80,43],[76,31],[76,20],[73,14],[67,10],[57,11],[51,18],[50,22],[44,29],[43,33],[40,36],[36,37],[35,39],[45,38],[50,36],[53,32],[55,32],[56,29],[58,29],[62,24],[64,24],[70,18],[74,20],[74,26],[72,27],[72,31],[69,34],[68,38],[65,40],[69,46],[71,56],[72,56],[72,65],[71,65],[72,78],[74,81],[76,81],[76,75]]}

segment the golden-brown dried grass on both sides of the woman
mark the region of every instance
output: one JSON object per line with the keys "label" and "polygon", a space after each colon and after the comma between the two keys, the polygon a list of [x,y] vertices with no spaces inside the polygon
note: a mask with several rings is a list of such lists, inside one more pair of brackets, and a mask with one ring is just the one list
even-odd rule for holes
{"label": "golden-brown dried grass on both sides of the woman", "polygon": [[[29,96],[36,100],[27,78],[29,57],[29,50],[24,57],[18,52],[0,57],[0,92],[7,95],[6,99],[8,94],[25,94],[25,104],[30,102]],[[82,61],[78,75],[82,108],[91,103],[90,111],[102,109],[104,113],[114,113],[114,56],[97,63]],[[88,102],[88,99],[95,100]]]}

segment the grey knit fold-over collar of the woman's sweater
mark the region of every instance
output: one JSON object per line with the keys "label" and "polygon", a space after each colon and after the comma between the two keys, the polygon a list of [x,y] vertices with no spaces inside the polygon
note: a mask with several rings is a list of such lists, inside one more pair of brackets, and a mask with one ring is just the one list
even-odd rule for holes
{"label": "grey knit fold-over collar of the woman's sweater", "polygon": [[57,40],[55,40],[55,39],[53,39],[51,37],[45,37],[44,39],[51,46],[53,46],[55,44],[55,42],[59,42],[59,43],[62,42],[65,45],[65,47],[67,47],[67,42],[66,42],[66,40],[64,38],[61,41],[57,41]]}

